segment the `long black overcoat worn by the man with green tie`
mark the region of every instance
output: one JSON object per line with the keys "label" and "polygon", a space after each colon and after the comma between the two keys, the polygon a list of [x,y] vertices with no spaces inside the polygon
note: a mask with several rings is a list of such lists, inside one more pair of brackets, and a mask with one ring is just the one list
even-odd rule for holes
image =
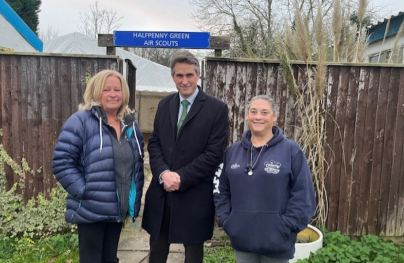
{"label": "long black overcoat worn by the man with green tie", "polygon": [[[158,237],[164,200],[171,194],[169,243],[202,243],[213,234],[213,177],[227,141],[227,105],[198,88],[178,137],[180,97],[176,93],[160,101],[148,140],[153,178],[146,193],[142,227],[153,238]],[[167,193],[159,184],[159,175],[167,169],[181,176],[180,190]]]}

